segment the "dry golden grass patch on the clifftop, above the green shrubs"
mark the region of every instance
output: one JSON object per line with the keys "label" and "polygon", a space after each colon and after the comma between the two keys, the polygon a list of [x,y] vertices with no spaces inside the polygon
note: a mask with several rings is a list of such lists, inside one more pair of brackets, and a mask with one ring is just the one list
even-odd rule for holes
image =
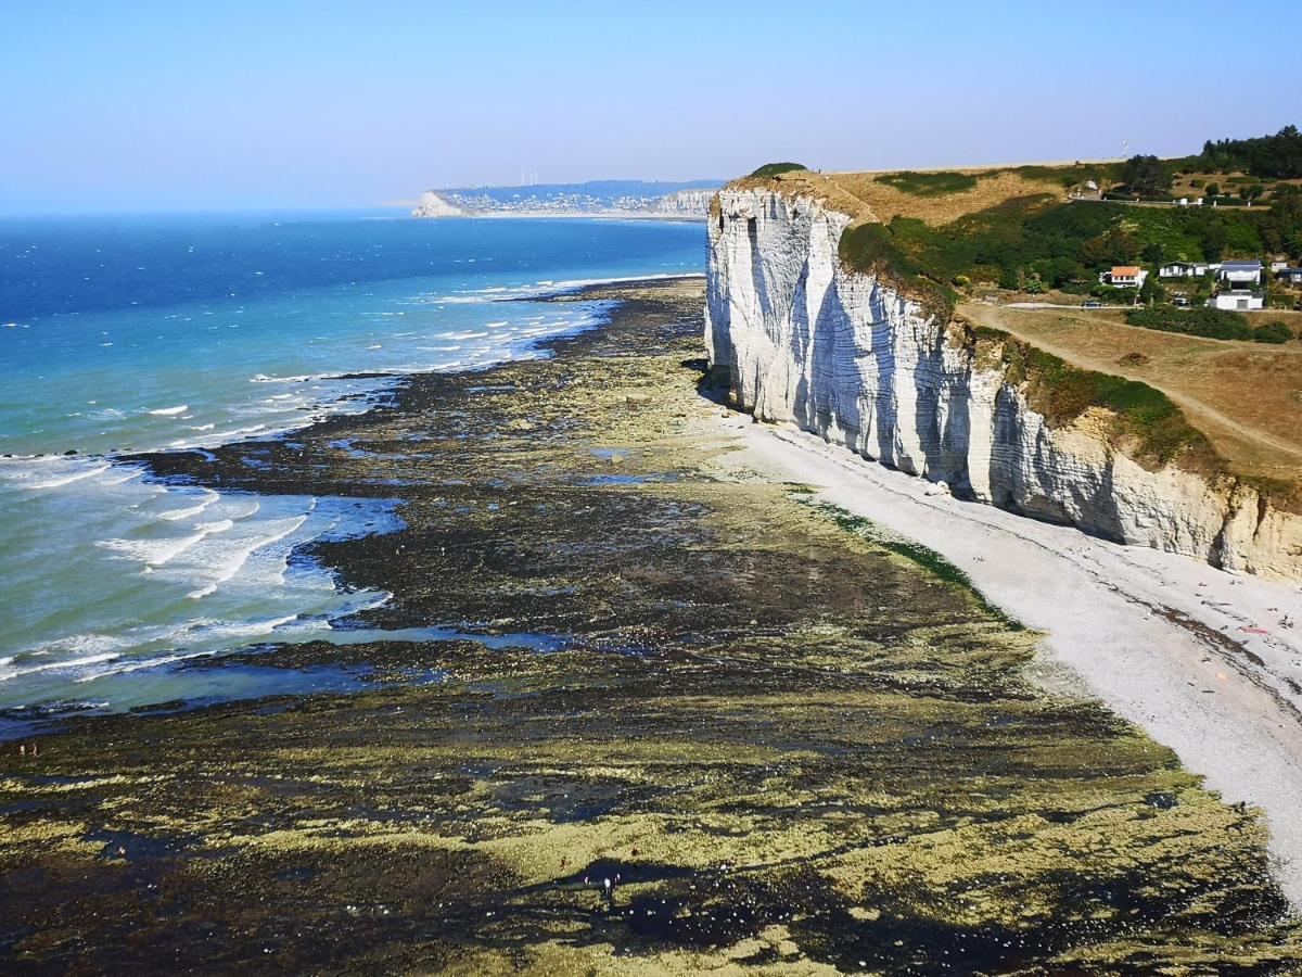
{"label": "dry golden grass patch on the clifftop, above the green shrubs", "polygon": [[[850,214],[857,220],[888,223],[892,218],[918,218],[931,225],[948,224],[967,214],[996,207],[1018,197],[1049,194],[1065,199],[1061,184],[1052,180],[1029,180],[1006,169],[954,169],[976,177],[976,186],[960,193],[926,197],[905,193],[889,184],[878,182],[872,173],[815,173],[796,171],[756,184],[775,186],[789,194],[806,194],[827,203],[832,210]],[[749,182],[749,181],[742,181]]]}

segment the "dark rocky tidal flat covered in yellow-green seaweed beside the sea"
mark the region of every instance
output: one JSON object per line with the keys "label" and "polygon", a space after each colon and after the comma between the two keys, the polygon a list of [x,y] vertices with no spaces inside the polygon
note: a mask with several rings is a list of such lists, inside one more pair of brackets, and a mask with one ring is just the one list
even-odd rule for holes
{"label": "dark rocky tidal flat covered in yellow-green seaweed beside the sea", "polygon": [[314,547],[393,594],[350,623],[370,640],[191,666],[365,663],[368,688],[8,749],[7,969],[1302,964],[1256,810],[1046,690],[1040,636],[953,565],[746,460],[702,389],[700,293],[591,289],[624,305],[551,360],[147,459],[402,500],[406,529]]}

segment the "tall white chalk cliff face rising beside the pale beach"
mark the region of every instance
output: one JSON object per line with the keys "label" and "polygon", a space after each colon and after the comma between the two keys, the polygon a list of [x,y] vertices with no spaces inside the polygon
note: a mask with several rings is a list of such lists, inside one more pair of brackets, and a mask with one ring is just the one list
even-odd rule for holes
{"label": "tall white chalk cliff face rising beside the pale beach", "polygon": [[963,498],[1302,580],[1302,517],[1228,475],[1146,468],[1109,444],[1103,409],[1051,427],[991,349],[888,280],[841,264],[849,223],[809,198],[719,194],[706,344],[742,409]]}

